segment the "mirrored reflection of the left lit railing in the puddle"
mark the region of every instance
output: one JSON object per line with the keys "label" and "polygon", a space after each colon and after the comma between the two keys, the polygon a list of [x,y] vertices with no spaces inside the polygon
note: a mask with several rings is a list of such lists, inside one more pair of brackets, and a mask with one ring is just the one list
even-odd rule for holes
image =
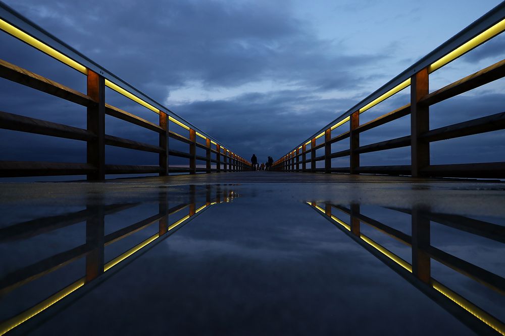
{"label": "mirrored reflection of the left lit railing in the puddle", "polygon": [[[14,272],[5,275],[0,279],[0,296],[7,294],[16,288],[22,289],[22,286],[41,278],[49,273],[58,270],[74,261],[85,257],[85,276],[57,293],[49,296],[40,303],[26,309],[21,313],[16,313],[15,316],[0,322],[0,335],[16,328],[21,323],[34,317],[45,309],[51,307],[56,302],[65,298],[72,292],[79,288],[86,286],[91,281],[104,275],[111,268],[116,267],[123,260],[139,255],[139,252],[145,251],[145,247],[153,246],[153,242],[161,241],[163,238],[168,237],[170,234],[181,228],[183,225],[193,219],[194,216],[199,214],[206,208],[219,204],[227,203],[234,197],[238,196],[226,187],[208,185],[205,188],[205,201],[197,201],[195,198],[194,185],[189,186],[189,200],[177,206],[168,208],[167,190],[159,194],[159,212],[156,215],[150,216],[137,223],[131,224],[117,231],[105,234],[106,215],[119,213],[126,209],[134,208],[140,203],[131,204],[113,204],[104,205],[99,199],[93,199],[86,206],[86,210],[69,213],[60,216],[45,217],[28,222],[14,224],[0,229],[0,243],[30,238],[43,233],[48,233],[65,226],[84,222],[86,223],[86,243],[74,247],[70,250],[55,254],[51,257],[37,261],[28,266],[22,267]],[[197,205],[200,205],[197,208]],[[188,208],[188,214],[179,220],[169,224],[169,217]],[[129,235],[146,229],[155,223],[159,224],[158,232],[147,239],[141,241],[137,245],[129,248],[124,253],[105,261],[105,246],[113,244]]]}

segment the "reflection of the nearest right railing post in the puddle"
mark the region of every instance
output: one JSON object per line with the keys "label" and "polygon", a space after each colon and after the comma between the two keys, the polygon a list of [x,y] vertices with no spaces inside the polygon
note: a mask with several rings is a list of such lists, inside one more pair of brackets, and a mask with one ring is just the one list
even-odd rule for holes
{"label": "reflection of the nearest right railing post in the puddle", "polygon": [[422,282],[429,284],[431,258],[427,253],[430,246],[430,220],[422,216],[427,209],[412,209],[412,273]]}

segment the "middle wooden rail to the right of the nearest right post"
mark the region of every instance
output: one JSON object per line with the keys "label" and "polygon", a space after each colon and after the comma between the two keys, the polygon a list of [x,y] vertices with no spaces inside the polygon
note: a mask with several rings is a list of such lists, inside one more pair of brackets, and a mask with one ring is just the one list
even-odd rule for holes
{"label": "middle wooden rail to the right of the nearest right post", "polygon": [[427,131],[421,138],[429,142],[447,140],[505,128],[505,112],[476,118]]}

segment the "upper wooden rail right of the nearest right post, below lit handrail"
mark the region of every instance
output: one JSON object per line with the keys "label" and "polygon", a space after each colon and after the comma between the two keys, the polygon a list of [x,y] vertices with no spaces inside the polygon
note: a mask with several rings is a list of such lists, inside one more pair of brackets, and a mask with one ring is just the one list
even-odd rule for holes
{"label": "upper wooden rail right of the nearest right post, below lit handrail", "polygon": [[505,77],[505,59],[426,95],[423,99],[421,99],[421,102],[426,105],[433,105],[445,99],[452,98],[498,80],[502,77]]}

